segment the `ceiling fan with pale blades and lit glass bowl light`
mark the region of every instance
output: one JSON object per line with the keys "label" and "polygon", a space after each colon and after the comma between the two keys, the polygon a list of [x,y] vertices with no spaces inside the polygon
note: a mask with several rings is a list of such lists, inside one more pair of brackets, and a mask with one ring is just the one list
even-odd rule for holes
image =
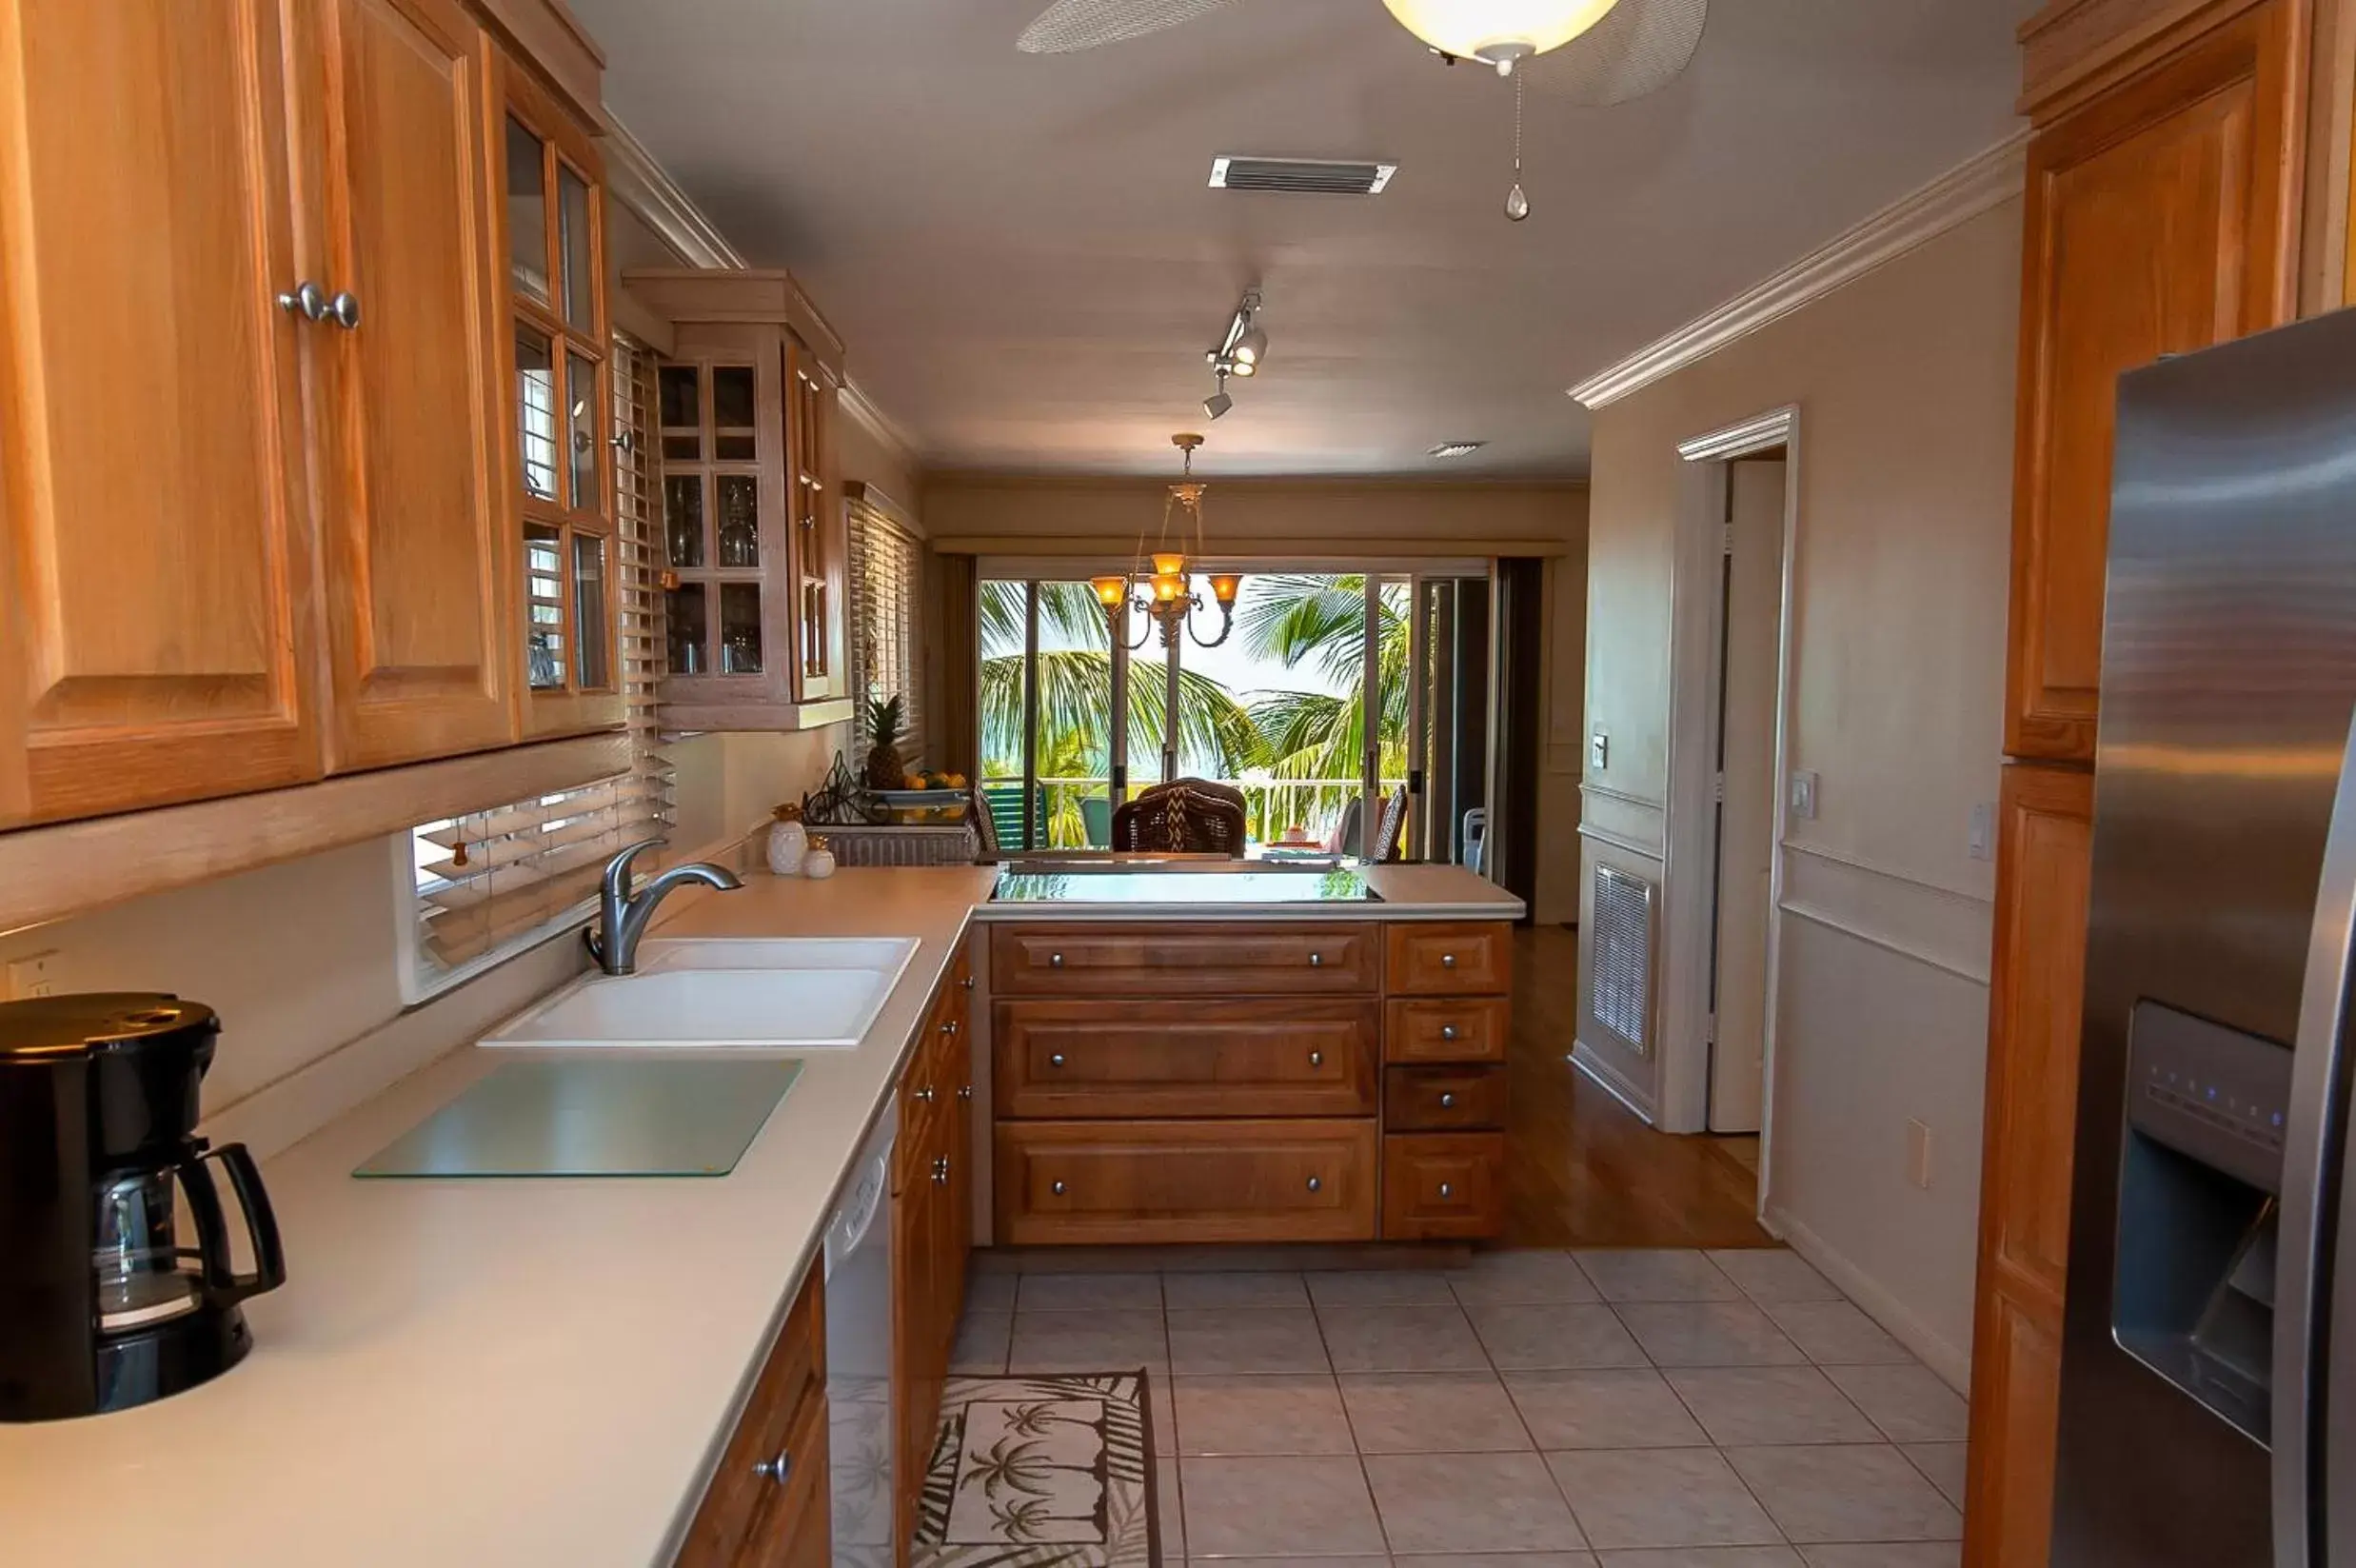
{"label": "ceiling fan with pale blades and lit glass bowl light", "polygon": [[[1265,0],[1272,2],[1272,0]],[[1180,26],[1235,0],[1055,0],[1023,28],[1027,54],[1074,54]],[[1538,87],[1571,104],[1640,99],[1673,83],[1701,47],[1710,0],[1383,0],[1449,64],[1513,75],[1548,54]]]}

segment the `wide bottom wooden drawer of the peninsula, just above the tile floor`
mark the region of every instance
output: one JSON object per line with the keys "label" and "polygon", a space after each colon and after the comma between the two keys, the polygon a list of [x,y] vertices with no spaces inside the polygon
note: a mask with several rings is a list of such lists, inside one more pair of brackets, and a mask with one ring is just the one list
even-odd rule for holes
{"label": "wide bottom wooden drawer of the peninsula, just above the tile floor", "polygon": [[999,1122],[999,1243],[1374,1240],[1376,1125]]}

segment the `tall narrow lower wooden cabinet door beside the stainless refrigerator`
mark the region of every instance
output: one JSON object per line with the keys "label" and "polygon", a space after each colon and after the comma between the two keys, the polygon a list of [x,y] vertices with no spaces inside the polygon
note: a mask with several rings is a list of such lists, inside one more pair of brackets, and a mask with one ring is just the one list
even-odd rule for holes
{"label": "tall narrow lower wooden cabinet door beside the stainless refrigerator", "polygon": [[2094,776],[2005,769],[1965,1561],[2036,1568],[2052,1518]]}

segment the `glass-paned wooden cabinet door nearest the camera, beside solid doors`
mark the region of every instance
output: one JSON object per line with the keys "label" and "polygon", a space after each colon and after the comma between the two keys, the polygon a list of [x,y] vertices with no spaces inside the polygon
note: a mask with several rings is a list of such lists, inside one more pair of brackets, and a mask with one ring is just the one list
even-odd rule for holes
{"label": "glass-paned wooden cabinet door nearest the camera, beside solid doors", "polygon": [[502,71],[509,413],[525,733],[622,722],[603,163],[521,66]]}

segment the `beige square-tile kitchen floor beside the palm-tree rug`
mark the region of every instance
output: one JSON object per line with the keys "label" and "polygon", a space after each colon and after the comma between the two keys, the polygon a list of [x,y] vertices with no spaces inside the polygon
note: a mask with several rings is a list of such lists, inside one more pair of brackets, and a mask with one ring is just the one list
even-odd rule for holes
{"label": "beige square-tile kitchen floor beside the palm-tree rug", "polygon": [[1166,1568],[1958,1563],[1963,1401],[1791,1252],[975,1273],[957,1370],[1136,1365]]}

